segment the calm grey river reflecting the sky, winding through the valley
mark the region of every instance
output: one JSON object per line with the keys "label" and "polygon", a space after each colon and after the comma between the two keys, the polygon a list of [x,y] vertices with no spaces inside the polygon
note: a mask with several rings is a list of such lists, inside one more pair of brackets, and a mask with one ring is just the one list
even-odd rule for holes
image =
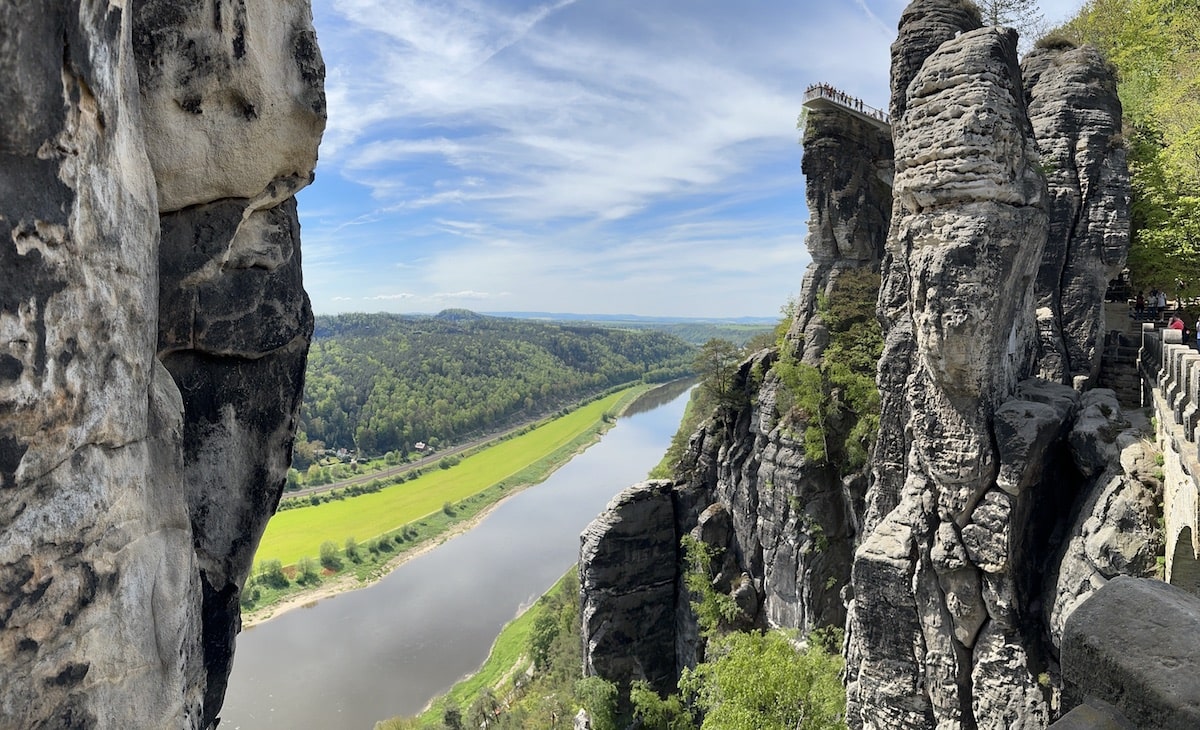
{"label": "calm grey river reflecting the sky, winding through the valley", "polygon": [[578,560],[588,522],[659,462],[686,388],[648,394],[550,479],[373,586],[244,632],[221,730],[371,730],[420,712],[482,664],[500,628]]}

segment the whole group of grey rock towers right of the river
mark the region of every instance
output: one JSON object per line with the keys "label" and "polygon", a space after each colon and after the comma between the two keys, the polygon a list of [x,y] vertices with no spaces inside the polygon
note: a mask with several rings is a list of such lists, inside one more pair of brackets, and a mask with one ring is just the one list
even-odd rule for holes
{"label": "whole group of grey rock towers right of the river", "polygon": [[[667,692],[702,658],[691,535],[721,556],[713,585],[742,627],[845,626],[852,728],[1033,729],[1069,708],[1064,624],[1109,580],[1154,573],[1160,484],[1153,445],[1096,388],[1129,243],[1114,71],[1067,42],[1022,66],[1016,44],[970,4],[917,0],[892,47],[890,128],[853,104],[808,112],[796,318],[743,363],[742,397],[691,437],[677,480],[630,487],[584,533],[589,674]],[[844,355],[827,321],[862,271],[882,355],[859,466],[845,408],[812,457],[815,411],[787,373]]]}

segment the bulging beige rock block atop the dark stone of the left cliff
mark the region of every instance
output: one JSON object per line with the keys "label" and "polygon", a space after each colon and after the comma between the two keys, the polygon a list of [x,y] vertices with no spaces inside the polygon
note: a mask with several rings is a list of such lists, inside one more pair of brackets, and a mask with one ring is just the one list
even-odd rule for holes
{"label": "bulging beige rock block atop the dark stone of the left cliff", "polygon": [[325,128],[310,0],[137,0],[133,52],[162,213],[308,184]]}

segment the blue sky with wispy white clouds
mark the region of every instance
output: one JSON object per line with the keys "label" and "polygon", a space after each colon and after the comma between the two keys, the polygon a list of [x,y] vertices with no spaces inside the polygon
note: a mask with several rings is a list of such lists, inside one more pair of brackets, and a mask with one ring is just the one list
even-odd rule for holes
{"label": "blue sky with wispy white clouds", "polygon": [[804,89],[886,107],[905,5],[313,0],[313,309],[778,315],[810,261]]}

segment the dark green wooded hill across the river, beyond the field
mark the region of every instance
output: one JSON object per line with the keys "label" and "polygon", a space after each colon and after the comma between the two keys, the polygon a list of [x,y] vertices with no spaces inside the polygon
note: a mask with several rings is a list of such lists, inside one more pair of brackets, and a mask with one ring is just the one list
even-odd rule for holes
{"label": "dark green wooded hill across the river, beyond the field", "polygon": [[466,310],[318,317],[296,466],[313,447],[377,455],[461,441],[613,385],[688,375],[692,358],[662,333]]}

